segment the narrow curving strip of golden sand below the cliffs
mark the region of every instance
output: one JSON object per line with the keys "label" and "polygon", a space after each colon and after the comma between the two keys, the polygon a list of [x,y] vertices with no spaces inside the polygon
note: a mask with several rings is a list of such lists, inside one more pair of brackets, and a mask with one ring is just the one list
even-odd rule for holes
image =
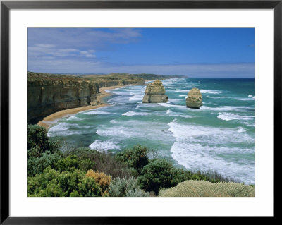
{"label": "narrow curving strip of golden sand below the cliffs", "polygon": [[80,111],[85,111],[85,110],[89,110],[89,109],[97,109],[99,107],[105,107],[109,104],[106,104],[103,101],[104,97],[112,95],[110,92],[106,92],[106,90],[111,90],[111,89],[120,88],[120,87],[125,87],[125,85],[123,85],[123,86],[111,86],[111,87],[100,87],[100,89],[99,89],[100,92],[97,94],[97,100],[100,102],[98,105],[78,107],[78,108],[73,108],[73,109],[66,109],[66,110],[62,110],[62,111],[57,111],[54,114],[46,116],[42,121],[39,121],[37,124],[39,126],[43,126],[44,128],[48,129],[51,126],[51,124],[55,123],[59,118],[63,118],[65,116],[77,114]]}

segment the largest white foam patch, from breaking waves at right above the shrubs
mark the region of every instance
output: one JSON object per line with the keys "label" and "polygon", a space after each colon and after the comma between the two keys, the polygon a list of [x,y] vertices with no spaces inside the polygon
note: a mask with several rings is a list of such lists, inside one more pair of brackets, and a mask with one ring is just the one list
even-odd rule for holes
{"label": "largest white foam patch, from breaking waves at right above the shrubs", "polygon": [[176,138],[171,152],[178,164],[195,171],[217,171],[231,178],[236,174],[236,179],[253,183],[254,165],[244,155],[252,155],[254,149],[235,147],[254,141],[244,128],[214,128],[176,121],[168,126]]}

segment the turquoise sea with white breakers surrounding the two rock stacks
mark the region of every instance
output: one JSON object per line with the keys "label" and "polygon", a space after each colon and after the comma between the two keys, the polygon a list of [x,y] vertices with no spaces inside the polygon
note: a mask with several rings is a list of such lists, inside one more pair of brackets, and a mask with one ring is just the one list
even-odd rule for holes
{"label": "turquoise sea with white breakers surrounding the two rock stacks", "polygon": [[[176,166],[255,183],[255,79],[178,78],[163,84],[167,103],[143,104],[146,85],[109,90],[108,107],[61,118],[48,135],[108,152],[146,145]],[[200,109],[185,106],[192,87],[202,92]]]}

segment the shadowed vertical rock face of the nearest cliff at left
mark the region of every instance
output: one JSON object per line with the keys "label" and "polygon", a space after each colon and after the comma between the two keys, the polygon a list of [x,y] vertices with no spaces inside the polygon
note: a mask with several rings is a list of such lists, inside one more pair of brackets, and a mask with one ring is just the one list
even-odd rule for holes
{"label": "shadowed vertical rock face of the nearest cliff at left", "polygon": [[27,122],[37,123],[63,109],[83,107],[96,102],[97,83],[85,80],[43,80],[27,83]]}

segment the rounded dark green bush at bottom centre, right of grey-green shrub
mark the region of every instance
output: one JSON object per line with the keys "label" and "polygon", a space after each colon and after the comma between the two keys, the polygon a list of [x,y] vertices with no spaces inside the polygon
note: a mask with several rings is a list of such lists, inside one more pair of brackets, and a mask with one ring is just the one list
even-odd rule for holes
{"label": "rounded dark green bush at bottom centre, right of grey-green shrub", "polygon": [[159,193],[159,188],[173,186],[173,166],[166,159],[154,159],[144,166],[138,182],[143,190]]}

